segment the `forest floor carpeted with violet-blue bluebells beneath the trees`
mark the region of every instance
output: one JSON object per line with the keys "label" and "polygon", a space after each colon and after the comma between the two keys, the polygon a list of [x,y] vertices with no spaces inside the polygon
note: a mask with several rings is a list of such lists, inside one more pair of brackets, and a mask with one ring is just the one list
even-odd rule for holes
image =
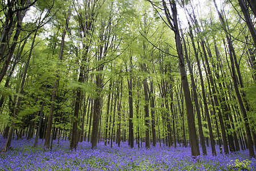
{"label": "forest floor carpeted with violet-blue bluebells beneath the trees", "polygon": [[[1,149],[5,142],[0,135]],[[0,154],[0,170],[256,170],[256,159],[249,158],[248,150],[225,155],[218,146],[217,156],[212,156],[208,147],[207,156],[193,158],[190,148],[179,144],[177,148],[157,143],[150,149],[131,149],[127,142],[120,148],[115,142],[113,148],[99,143],[92,150],[90,143],[83,142],[70,151],[67,140],[60,140],[59,145],[54,140],[52,150],[45,149],[43,143],[39,140],[34,147],[34,139],[13,140],[11,149]]]}

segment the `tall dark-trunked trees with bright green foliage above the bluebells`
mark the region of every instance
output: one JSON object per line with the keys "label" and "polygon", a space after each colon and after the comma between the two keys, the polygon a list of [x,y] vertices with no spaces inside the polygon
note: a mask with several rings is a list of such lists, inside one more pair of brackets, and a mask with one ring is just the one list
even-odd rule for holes
{"label": "tall dark-trunked trees with bright green foliage above the bluebells", "polygon": [[1,0],[3,150],[35,136],[255,157],[255,22],[254,0]]}

